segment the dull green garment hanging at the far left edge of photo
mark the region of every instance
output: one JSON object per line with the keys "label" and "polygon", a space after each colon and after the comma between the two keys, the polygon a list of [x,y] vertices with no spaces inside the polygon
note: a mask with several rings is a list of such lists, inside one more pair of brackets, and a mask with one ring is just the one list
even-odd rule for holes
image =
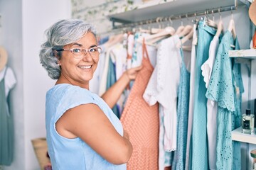
{"label": "dull green garment hanging at the far left edge of photo", "polygon": [[9,112],[4,79],[0,81],[0,165],[10,166],[14,159],[14,116]]}

